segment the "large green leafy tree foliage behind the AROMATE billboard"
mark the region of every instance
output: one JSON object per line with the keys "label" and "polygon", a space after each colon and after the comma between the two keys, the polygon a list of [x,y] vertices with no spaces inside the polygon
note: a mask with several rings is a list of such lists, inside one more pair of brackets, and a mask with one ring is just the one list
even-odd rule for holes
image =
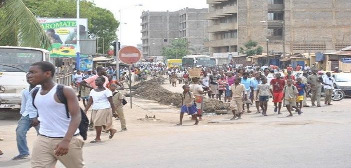
{"label": "large green leafy tree foliage behind the AROMATE billboard", "polygon": [[[22,1],[22,4],[24,3],[25,6],[27,7],[26,10],[27,11],[30,10],[33,13],[32,18],[35,18],[35,17],[75,18],[76,17],[76,0],[7,0],[7,1],[15,1],[18,4],[20,4],[20,2]],[[4,24],[2,23],[3,17],[1,18],[1,10],[0,10],[0,29],[4,27]],[[17,9],[17,10],[24,10],[24,9]],[[116,30],[119,26],[119,22],[114,18],[113,13],[109,10],[97,7],[90,0],[89,1],[80,0],[80,18],[88,18],[88,33],[93,34],[99,38],[104,38],[105,50],[108,50],[109,49],[108,46],[112,45],[113,40],[116,39]],[[22,20],[26,20],[26,19],[28,19],[28,16],[22,17]],[[23,25],[23,24],[20,24],[20,25]],[[33,33],[33,32],[30,32],[30,33]],[[12,34],[15,34],[15,33],[12,33]],[[37,35],[37,34],[34,33],[34,35]],[[11,39],[16,39],[15,35],[12,35]],[[100,46],[102,46],[102,39],[101,39]],[[102,48],[99,50],[99,53],[102,53]]]}

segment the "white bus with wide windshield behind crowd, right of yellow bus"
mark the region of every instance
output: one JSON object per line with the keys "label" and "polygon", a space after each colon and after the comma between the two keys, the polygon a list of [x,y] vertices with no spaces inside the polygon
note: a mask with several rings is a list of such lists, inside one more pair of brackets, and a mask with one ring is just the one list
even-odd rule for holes
{"label": "white bus with wide windshield behind crowd, right of yellow bus", "polygon": [[183,67],[215,67],[216,59],[207,55],[187,55],[183,57]]}

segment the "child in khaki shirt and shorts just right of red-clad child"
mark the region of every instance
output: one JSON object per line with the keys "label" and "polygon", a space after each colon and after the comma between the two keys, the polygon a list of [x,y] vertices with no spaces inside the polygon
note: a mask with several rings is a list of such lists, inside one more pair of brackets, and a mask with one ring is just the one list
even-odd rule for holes
{"label": "child in khaki shirt and shorts just right of red-clad child", "polygon": [[298,90],[296,86],[292,85],[292,82],[292,79],[287,79],[287,85],[285,85],[283,89],[282,100],[284,100],[286,108],[290,113],[290,115],[287,115],[287,117],[293,116],[291,107],[295,108],[298,114],[301,115],[301,110],[296,106],[296,100],[298,99]]}

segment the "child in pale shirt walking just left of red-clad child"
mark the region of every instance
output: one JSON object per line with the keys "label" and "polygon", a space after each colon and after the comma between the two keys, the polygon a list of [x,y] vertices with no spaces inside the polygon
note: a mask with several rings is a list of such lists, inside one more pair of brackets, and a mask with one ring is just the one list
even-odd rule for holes
{"label": "child in pale shirt walking just left of red-clad child", "polygon": [[[268,101],[269,101],[269,92],[273,95],[272,86],[267,83],[268,79],[263,77],[262,84],[258,84],[257,95],[259,96],[259,103],[263,109],[262,115],[267,115]],[[274,100],[274,96],[273,96]]]}

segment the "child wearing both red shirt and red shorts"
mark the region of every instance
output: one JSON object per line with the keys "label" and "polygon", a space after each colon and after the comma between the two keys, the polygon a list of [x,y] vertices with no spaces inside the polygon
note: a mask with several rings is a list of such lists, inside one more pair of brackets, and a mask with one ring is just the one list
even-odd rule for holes
{"label": "child wearing both red shirt and red shorts", "polygon": [[[273,102],[274,102],[274,112],[278,111],[278,114],[282,114],[280,112],[281,110],[281,104],[282,104],[282,98],[283,98],[283,89],[285,86],[285,80],[281,79],[281,74],[280,73],[276,73],[276,78],[272,79],[272,81],[270,81],[270,85],[273,86]],[[279,103],[279,106],[278,106]],[[279,110],[278,110],[279,107]]]}

